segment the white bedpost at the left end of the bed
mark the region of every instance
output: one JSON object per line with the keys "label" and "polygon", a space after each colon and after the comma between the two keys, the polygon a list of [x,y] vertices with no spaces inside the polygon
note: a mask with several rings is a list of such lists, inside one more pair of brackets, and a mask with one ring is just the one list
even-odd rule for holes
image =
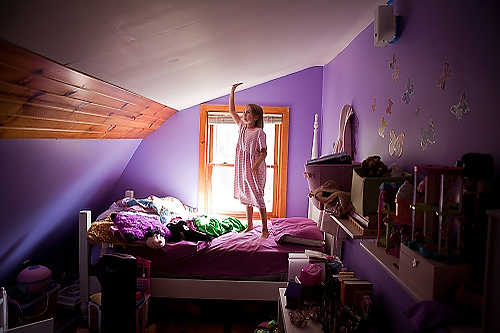
{"label": "white bedpost at the left end of the bed", "polygon": [[87,244],[87,231],[90,228],[91,211],[81,210],[78,217],[78,258],[80,269],[80,310],[86,319],[89,303],[89,257]]}

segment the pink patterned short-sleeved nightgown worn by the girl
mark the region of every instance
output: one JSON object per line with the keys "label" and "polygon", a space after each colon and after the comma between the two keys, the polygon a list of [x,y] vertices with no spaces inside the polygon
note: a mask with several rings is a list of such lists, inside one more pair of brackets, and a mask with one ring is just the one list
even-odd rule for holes
{"label": "pink patterned short-sleeved nightgown worn by the girl", "polygon": [[263,149],[267,149],[266,133],[260,127],[248,128],[241,121],[234,159],[234,198],[247,206],[266,207],[264,203],[265,161],[259,165],[258,171],[252,174],[252,167]]}

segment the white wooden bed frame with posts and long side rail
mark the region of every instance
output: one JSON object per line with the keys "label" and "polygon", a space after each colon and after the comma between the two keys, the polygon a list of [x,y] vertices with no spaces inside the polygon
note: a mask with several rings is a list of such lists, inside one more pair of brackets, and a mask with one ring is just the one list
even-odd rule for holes
{"label": "white wooden bed frame with posts and long side rail", "polygon": [[[314,124],[312,157],[317,156],[317,116]],[[133,196],[132,191],[125,193]],[[316,219],[317,222],[319,222]],[[87,316],[89,294],[100,290],[96,277],[89,277],[89,251],[87,231],[92,223],[91,212],[82,210],[79,214],[79,271],[81,311]],[[326,250],[331,252],[331,241],[324,234]],[[185,299],[251,300],[277,301],[279,288],[286,288],[286,281],[240,281],[240,280],[201,280],[176,278],[151,278],[151,296]]]}

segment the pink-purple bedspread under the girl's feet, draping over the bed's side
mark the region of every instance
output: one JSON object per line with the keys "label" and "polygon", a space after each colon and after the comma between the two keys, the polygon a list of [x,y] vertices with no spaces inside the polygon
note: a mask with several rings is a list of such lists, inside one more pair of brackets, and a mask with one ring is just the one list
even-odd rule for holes
{"label": "pink-purple bedspread under the girl's feet, draping over the bed's side", "polygon": [[[272,229],[271,224],[269,227]],[[230,232],[211,242],[167,243],[161,250],[140,248],[135,249],[133,254],[153,261],[153,276],[276,278],[286,276],[288,253],[304,252],[308,248],[277,244],[274,237],[262,239],[260,234],[261,225],[255,223],[255,229],[250,232]]]}

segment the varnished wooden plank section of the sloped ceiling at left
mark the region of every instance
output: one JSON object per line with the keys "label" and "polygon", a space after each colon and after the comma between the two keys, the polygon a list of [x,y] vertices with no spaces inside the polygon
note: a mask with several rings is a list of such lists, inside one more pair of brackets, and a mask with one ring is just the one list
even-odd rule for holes
{"label": "varnished wooden plank section of the sloped ceiling at left", "polygon": [[0,138],[139,139],[176,112],[0,39]]}

